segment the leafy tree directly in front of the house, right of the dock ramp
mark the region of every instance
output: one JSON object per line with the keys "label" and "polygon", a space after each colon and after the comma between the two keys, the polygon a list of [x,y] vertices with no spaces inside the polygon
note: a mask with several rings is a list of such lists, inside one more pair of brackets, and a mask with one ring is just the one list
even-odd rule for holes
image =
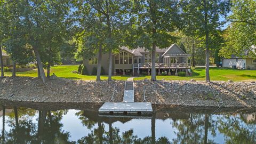
{"label": "leafy tree directly in front of the house, right of the dock ramp", "polygon": [[174,37],[169,33],[177,27],[177,1],[133,1],[130,28],[125,31],[125,42],[131,49],[144,47],[152,52],[151,81],[156,81],[156,47],[170,46]]}

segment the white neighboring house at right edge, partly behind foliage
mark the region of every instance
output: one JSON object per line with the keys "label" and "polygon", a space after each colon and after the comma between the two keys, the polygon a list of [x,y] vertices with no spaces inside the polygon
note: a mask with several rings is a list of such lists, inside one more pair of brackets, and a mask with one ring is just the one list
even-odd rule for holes
{"label": "white neighboring house at right edge, partly behind foliage", "polygon": [[[251,51],[256,54],[256,46],[251,46]],[[248,52],[246,52],[246,55]],[[222,67],[237,69],[256,69],[256,58],[239,58],[231,55],[230,59],[222,58]]]}

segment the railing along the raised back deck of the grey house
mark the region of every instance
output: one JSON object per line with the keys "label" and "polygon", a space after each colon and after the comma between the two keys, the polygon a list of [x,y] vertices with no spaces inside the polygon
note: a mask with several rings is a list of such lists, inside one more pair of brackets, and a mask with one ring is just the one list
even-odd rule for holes
{"label": "railing along the raised back deck of the grey house", "polygon": [[[151,68],[151,63],[140,63],[141,68]],[[190,63],[156,63],[156,68],[190,68]]]}

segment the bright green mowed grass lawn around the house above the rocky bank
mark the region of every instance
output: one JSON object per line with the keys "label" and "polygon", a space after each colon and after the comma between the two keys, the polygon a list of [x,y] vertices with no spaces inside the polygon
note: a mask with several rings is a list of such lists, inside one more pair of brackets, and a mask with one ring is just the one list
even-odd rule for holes
{"label": "bright green mowed grass lawn around the house above the rocky bank", "polygon": [[[58,77],[75,79],[75,80],[95,80],[96,76],[92,75],[78,75],[71,73],[73,70],[77,70],[77,65],[62,65],[54,66],[51,68],[51,74],[55,74]],[[11,76],[11,72],[6,72],[6,76]],[[26,72],[18,72],[17,76],[29,76],[37,77],[37,70],[30,70]],[[130,76],[112,76],[112,79],[116,80],[126,80]],[[238,69],[226,69],[226,68],[210,68],[210,77],[211,81],[256,81],[256,70],[238,70]],[[138,79],[150,79],[150,76],[140,76]],[[196,68],[193,69],[192,76],[179,77],[179,76],[156,76],[158,80],[190,80],[195,79],[197,81],[204,81],[205,79],[205,69]],[[107,75],[101,76],[101,79],[108,79]],[[135,78],[137,80],[137,78]]]}

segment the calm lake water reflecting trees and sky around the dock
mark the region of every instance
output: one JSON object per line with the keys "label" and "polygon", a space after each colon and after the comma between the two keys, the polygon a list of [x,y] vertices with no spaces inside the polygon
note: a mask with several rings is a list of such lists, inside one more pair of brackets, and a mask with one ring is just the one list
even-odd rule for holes
{"label": "calm lake water reflecting trees and sky around the dock", "polygon": [[256,143],[254,110],[154,106],[153,115],[109,116],[99,106],[51,106],[1,106],[1,142]]}

